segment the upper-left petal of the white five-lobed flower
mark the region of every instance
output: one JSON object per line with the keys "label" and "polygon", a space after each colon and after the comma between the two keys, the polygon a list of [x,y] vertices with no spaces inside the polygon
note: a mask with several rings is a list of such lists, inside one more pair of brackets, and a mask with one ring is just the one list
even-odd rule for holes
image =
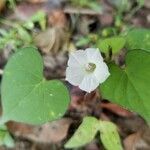
{"label": "upper-left petal of the white five-lobed flower", "polygon": [[84,50],[78,50],[70,54],[68,66],[79,67],[87,63],[87,56]]}

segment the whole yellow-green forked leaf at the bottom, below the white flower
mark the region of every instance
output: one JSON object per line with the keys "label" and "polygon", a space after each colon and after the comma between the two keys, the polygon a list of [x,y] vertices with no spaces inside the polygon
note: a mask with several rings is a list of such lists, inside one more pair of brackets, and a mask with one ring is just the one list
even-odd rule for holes
{"label": "whole yellow-green forked leaf at the bottom, below the white flower", "polygon": [[85,117],[65,148],[76,148],[91,142],[97,132],[107,150],[122,150],[117,127],[108,121],[99,121],[94,117]]}

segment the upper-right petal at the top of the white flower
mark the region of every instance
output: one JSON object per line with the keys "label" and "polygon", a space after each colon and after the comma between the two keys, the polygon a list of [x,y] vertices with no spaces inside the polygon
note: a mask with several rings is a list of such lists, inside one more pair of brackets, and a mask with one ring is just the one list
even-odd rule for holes
{"label": "upper-right petal at the top of the white flower", "polygon": [[88,62],[97,63],[103,61],[103,57],[98,48],[87,48],[85,50]]}

